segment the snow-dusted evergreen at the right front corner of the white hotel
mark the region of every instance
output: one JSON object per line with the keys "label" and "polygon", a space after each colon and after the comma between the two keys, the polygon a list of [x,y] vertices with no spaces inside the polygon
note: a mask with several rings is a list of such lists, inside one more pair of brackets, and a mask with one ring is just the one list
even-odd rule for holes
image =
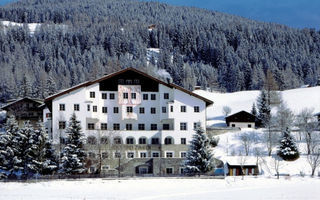
{"label": "snow-dusted evergreen at the right front corner of the white hotel", "polygon": [[206,173],[213,168],[210,139],[199,125],[195,132],[185,163],[188,174]]}

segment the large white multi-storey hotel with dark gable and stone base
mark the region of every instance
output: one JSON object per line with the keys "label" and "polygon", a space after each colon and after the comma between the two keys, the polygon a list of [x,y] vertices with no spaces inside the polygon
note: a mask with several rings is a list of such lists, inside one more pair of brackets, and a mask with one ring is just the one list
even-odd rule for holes
{"label": "large white multi-storey hotel with dark gable and stone base", "polygon": [[82,83],[45,100],[49,135],[61,149],[73,113],[86,138],[89,172],[179,174],[194,127],[213,102],[134,68]]}

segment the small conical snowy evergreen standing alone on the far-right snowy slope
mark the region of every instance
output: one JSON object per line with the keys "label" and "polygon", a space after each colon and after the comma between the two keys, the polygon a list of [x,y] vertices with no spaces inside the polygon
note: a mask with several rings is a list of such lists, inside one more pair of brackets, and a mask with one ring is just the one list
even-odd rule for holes
{"label": "small conical snowy evergreen standing alone on the far-right snowy slope", "polygon": [[287,128],[280,140],[278,155],[287,161],[293,161],[299,158],[299,151],[293,137],[290,134],[290,129]]}

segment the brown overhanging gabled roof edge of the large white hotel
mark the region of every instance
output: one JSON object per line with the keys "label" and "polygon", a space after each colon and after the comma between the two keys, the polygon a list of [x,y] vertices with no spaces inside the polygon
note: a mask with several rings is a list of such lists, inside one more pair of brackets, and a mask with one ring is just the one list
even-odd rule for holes
{"label": "brown overhanging gabled roof edge of the large white hotel", "polygon": [[187,93],[187,94],[189,94],[189,95],[191,95],[191,96],[194,96],[194,97],[196,97],[196,98],[198,98],[198,99],[201,99],[201,100],[205,101],[207,106],[213,104],[213,101],[211,101],[211,100],[209,100],[209,99],[207,99],[207,98],[204,98],[204,97],[202,97],[202,96],[200,96],[200,95],[197,95],[197,94],[195,94],[195,93],[193,93],[193,92],[191,92],[191,91],[189,91],[189,90],[186,90],[186,89],[184,89],[184,88],[182,88],[182,87],[180,87],[180,86],[178,86],[178,85],[176,85],[176,84],[166,83],[166,82],[164,82],[164,81],[162,81],[162,80],[160,80],[160,79],[157,79],[157,78],[155,78],[155,77],[153,77],[153,76],[150,76],[150,75],[147,74],[147,73],[144,73],[144,72],[139,71],[139,70],[137,70],[137,69],[135,69],[135,68],[132,68],[132,67],[126,68],[126,69],[124,69],[124,70],[120,70],[120,71],[118,71],[118,72],[115,72],[115,73],[112,73],[112,74],[109,74],[109,75],[105,75],[105,76],[103,76],[103,77],[101,77],[101,78],[99,78],[99,79],[96,79],[96,80],[94,80],[94,81],[87,81],[87,82],[81,83],[81,84],[79,84],[79,85],[73,86],[73,87],[71,87],[71,88],[68,88],[68,89],[66,89],[66,90],[63,90],[63,91],[61,91],[61,92],[59,92],[59,93],[57,93],[57,94],[54,94],[54,95],[51,95],[51,96],[47,97],[47,98],[45,99],[45,102],[49,102],[49,101],[51,101],[51,100],[53,100],[53,99],[55,99],[55,98],[57,98],[57,97],[59,97],[59,96],[62,96],[62,95],[64,95],[64,94],[68,94],[68,93],[70,93],[70,92],[72,92],[72,91],[74,91],[74,90],[77,90],[77,89],[79,89],[79,88],[87,87],[87,86],[93,85],[93,84],[95,84],[95,83],[99,83],[99,82],[101,82],[101,81],[107,80],[107,79],[109,79],[109,78],[112,78],[112,77],[114,77],[114,76],[116,76],[116,75],[122,74],[122,73],[127,72],[127,71],[136,72],[136,73],[138,73],[138,74],[141,74],[142,76],[145,76],[145,77],[147,77],[147,78],[150,78],[150,79],[152,79],[152,80],[154,80],[154,81],[156,81],[156,82],[158,82],[158,83],[160,83],[160,84],[163,84],[163,85],[165,85],[165,86],[167,86],[167,87],[175,88],[175,89],[177,89],[177,90],[180,90],[180,91],[182,91],[182,92],[185,92],[185,93]]}

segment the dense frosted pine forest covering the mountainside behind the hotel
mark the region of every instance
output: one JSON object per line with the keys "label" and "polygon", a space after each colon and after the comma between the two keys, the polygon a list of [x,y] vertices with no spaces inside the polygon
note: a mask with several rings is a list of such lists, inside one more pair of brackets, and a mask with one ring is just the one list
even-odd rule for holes
{"label": "dense frosted pine forest covering the mountainside behind the hotel", "polygon": [[[125,67],[233,92],[316,84],[320,32],[135,0],[22,0],[0,7],[0,100],[43,98]],[[30,33],[27,23],[41,23]],[[147,56],[148,48],[160,48]]]}

